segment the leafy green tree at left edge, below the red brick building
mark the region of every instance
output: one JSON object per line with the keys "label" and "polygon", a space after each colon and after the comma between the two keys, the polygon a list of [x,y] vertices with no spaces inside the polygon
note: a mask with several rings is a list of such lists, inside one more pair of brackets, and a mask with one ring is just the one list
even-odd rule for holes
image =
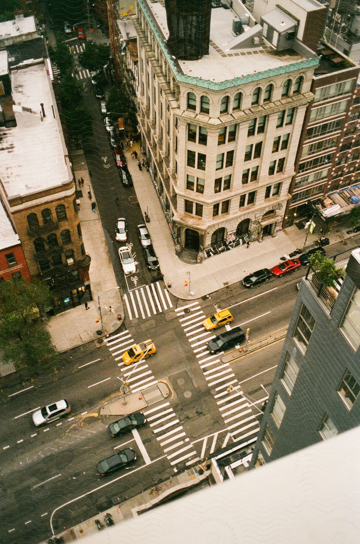
{"label": "leafy green tree at left edge, below the red brick building", "polygon": [[31,367],[53,361],[56,351],[41,319],[51,300],[41,281],[0,284],[0,349],[5,361]]}

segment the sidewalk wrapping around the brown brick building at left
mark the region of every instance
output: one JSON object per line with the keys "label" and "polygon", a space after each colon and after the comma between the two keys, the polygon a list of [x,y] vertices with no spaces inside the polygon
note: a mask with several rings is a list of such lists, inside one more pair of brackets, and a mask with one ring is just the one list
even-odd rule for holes
{"label": "sidewalk wrapping around the brown brick building at left", "polygon": [[[72,157],[75,179],[77,181],[80,177],[84,179],[84,185],[81,187],[83,196],[79,199],[79,219],[85,251],[91,256],[89,275],[93,300],[89,300],[85,295],[84,302],[87,301],[88,310],[81,304],[49,319],[48,330],[58,351],[66,351],[99,338],[97,331],[102,329],[102,324],[105,333],[115,331],[121,324],[117,315],[120,314],[122,319],[124,317],[121,289],[117,285],[112,268],[102,222],[97,209],[96,212],[91,209],[91,202],[95,199],[84,153],[78,151],[73,153]],[[87,195],[89,189],[91,200]],[[110,306],[114,313],[109,310]]]}

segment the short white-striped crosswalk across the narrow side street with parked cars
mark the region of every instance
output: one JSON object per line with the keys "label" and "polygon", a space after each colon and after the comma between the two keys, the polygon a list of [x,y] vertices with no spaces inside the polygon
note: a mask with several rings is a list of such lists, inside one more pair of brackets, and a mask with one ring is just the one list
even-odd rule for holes
{"label": "short white-striped crosswalk across the narrow side street with parked cars", "polygon": [[132,289],[129,294],[125,293],[124,301],[131,320],[156,316],[173,307],[168,290],[162,288],[158,281]]}

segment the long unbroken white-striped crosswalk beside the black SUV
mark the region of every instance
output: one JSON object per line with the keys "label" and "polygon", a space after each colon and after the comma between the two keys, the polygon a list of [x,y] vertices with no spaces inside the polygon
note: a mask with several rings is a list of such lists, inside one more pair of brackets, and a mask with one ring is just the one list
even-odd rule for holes
{"label": "long unbroken white-striped crosswalk beside the black SUV", "polygon": [[198,302],[176,308],[175,312],[203,370],[207,385],[211,387],[231,438],[234,442],[245,438],[247,441],[255,441],[260,429],[257,421],[258,409],[245,397],[230,364],[221,361],[224,352],[211,355],[206,348],[207,342],[218,333],[204,329],[203,321],[206,316]]}

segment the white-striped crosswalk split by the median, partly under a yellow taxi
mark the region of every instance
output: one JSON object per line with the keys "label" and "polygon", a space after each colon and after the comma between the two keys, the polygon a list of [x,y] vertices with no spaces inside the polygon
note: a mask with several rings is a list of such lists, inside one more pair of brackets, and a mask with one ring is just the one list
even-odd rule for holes
{"label": "white-striped crosswalk split by the median, partly under a yellow taxi", "polygon": [[[119,361],[118,366],[125,381],[129,383],[131,393],[142,391],[157,384],[157,380],[145,360],[130,366],[123,364],[122,354],[135,344],[128,330],[109,336],[105,339],[105,343],[115,361]],[[186,436],[184,427],[165,399],[160,405],[149,408],[143,413],[175,472],[176,465],[180,462],[191,466],[200,461],[190,442],[190,438]]]}

